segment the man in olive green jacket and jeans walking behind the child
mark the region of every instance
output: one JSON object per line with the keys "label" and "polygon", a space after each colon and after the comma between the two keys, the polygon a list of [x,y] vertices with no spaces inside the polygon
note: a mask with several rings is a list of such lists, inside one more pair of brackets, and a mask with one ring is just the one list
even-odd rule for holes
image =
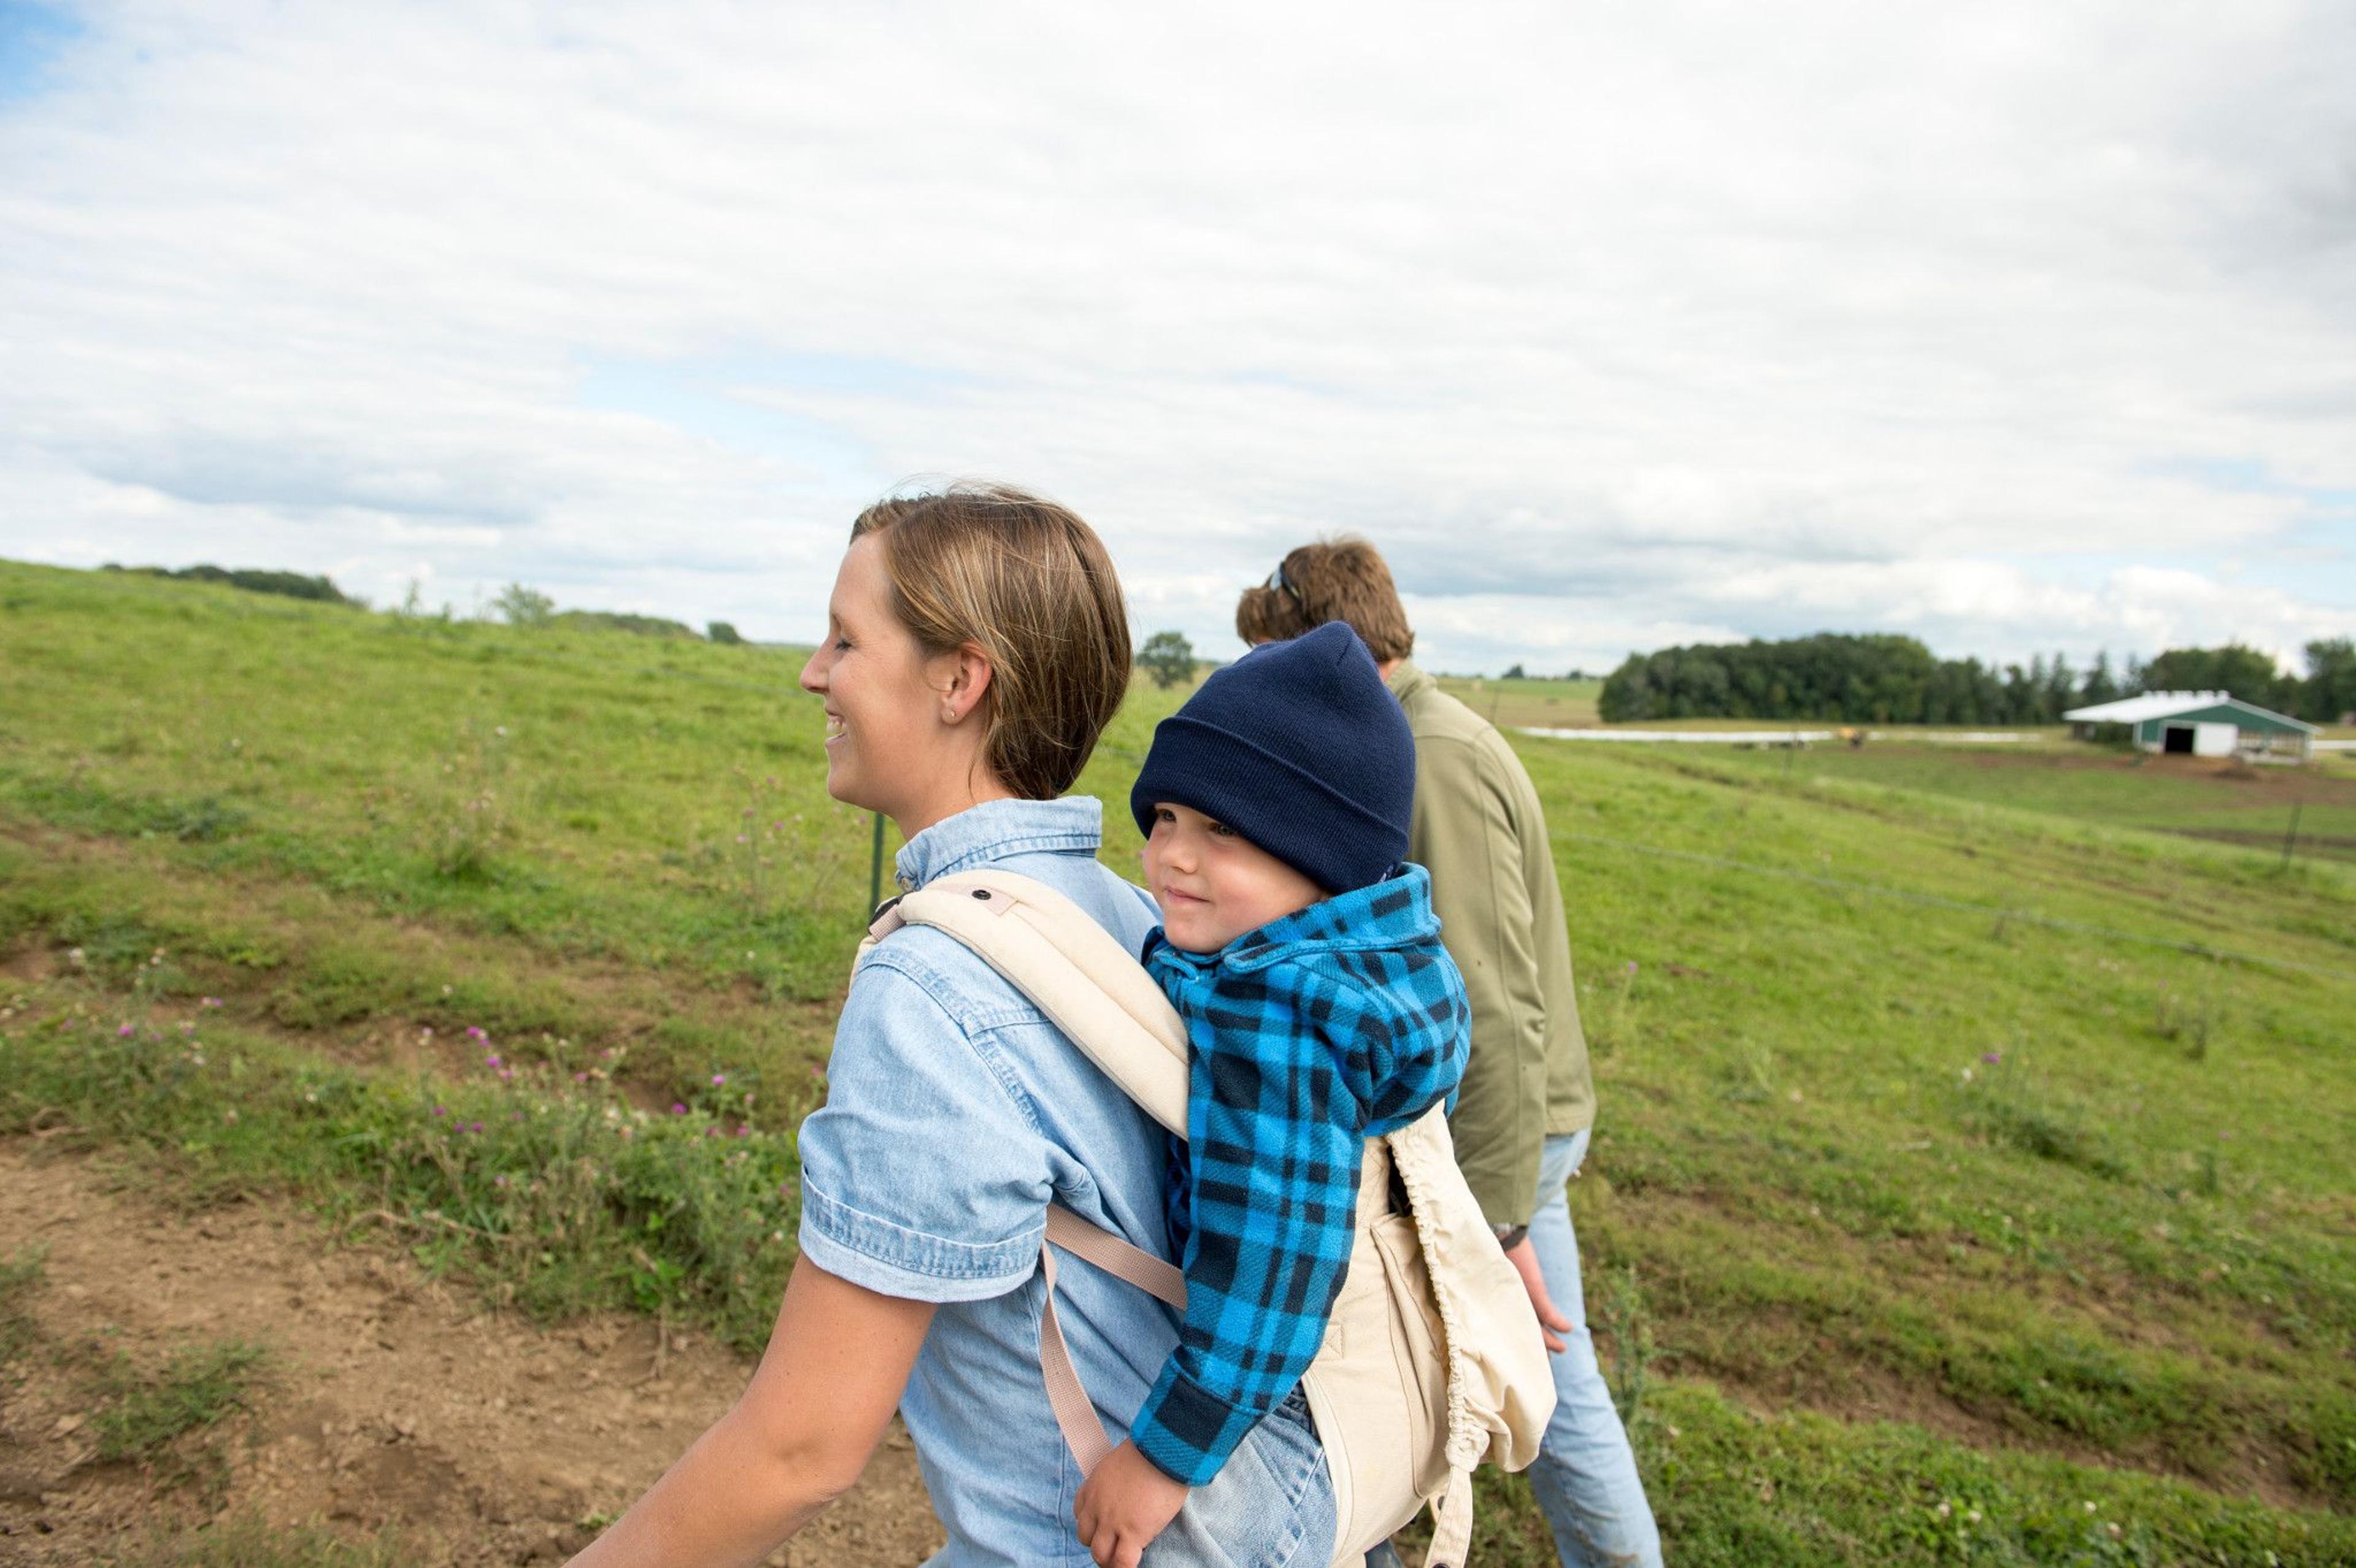
{"label": "man in olive green jacket and jeans walking behind the child", "polygon": [[1456,1161],[1529,1288],[1555,1368],[1531,1490],[1564,1568],[1659,1568],[1661,1533],[1588,1337],[1564,1201],[1595,1123],[1595,1083],[1538,791],[1496,725],[1409,662],[1407,607],[1364,539],[1296,549],[1235,610],[1246,643],[1324,622],[1366,640],[1416,737],[1407,855],[1432,873],[1440,939],[1472,1003],[1472,1057],[1449,1121]]}

